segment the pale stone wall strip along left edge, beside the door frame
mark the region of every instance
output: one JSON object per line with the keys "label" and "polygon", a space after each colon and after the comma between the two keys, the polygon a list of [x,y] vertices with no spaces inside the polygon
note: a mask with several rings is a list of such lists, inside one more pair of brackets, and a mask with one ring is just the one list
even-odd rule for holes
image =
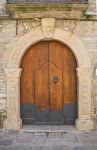
{"label": "pale stone wall strip along left edge, beside the door frame", "polygon": [[0,21],[0,109],[6,109],[6,78],[4,68],[15,41],[16,21]]}

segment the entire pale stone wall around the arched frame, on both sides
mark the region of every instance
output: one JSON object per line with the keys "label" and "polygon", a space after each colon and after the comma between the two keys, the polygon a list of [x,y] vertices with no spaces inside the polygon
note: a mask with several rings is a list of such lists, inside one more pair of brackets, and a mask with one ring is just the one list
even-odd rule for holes
{"label": "entire pale stone wall around the arched frame, on both sides", "polygon": [[[91,2],[91,1],[90,1]],[[90,10],[95,12],[95,0],[92,0],[89,6]],[[33,18],[26,20],[4,19],[0,20],[0,110],[6,110],[6,77],[4,68],[6,68],[9,55],[19,37],[22,37],[25,33],[34,30],[41,26],[41,19]],[[84,43],[91,64],[93,67],[92,74],[92,102],[96,104],[96,78],[94,68],[97,65],[97,21],[96,20],[56,20],[56,27],[62,30],[75,33],[76,36]],[[33,36],[33,35],[32,35]],[[72,36],[72,35],[71,35]],[[93,112],[95,113],[96,106],[93,105]]]}

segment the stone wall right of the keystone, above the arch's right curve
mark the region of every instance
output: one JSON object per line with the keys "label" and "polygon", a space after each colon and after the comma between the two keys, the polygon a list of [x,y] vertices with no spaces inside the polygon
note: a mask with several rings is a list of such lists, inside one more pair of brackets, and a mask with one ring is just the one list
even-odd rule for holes
{"label": "stone wall right of the keystone, above the arch's right curve", "polygon": [[97,55],[97,21],[58,20],[56,25],[63,30],[72,31],[82,40],[94,65]]}

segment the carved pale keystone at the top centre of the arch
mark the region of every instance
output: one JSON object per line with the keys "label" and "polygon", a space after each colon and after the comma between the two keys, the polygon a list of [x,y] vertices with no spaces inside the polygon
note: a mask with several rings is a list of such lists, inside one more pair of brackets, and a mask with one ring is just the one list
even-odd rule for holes
{"label": "carved pale keystone at the top centre of the arch", "polygon": [[55,19],[54,18],[43,18],[41,19],[41,26],[43,36],[50,38],[53,36],[55,30]]}

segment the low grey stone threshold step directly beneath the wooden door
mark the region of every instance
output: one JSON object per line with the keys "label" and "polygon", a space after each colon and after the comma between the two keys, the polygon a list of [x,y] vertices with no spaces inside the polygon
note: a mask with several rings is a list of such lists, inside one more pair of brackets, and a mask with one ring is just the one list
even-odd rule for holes
{"label": "low grey stone threshold step directly beneath the wooden door", "polygon": [[60,125],[24,125],[21,132],[36,133],[36,134],[48,134],[48,133],[67,133],[77,132],[74,126]]}

